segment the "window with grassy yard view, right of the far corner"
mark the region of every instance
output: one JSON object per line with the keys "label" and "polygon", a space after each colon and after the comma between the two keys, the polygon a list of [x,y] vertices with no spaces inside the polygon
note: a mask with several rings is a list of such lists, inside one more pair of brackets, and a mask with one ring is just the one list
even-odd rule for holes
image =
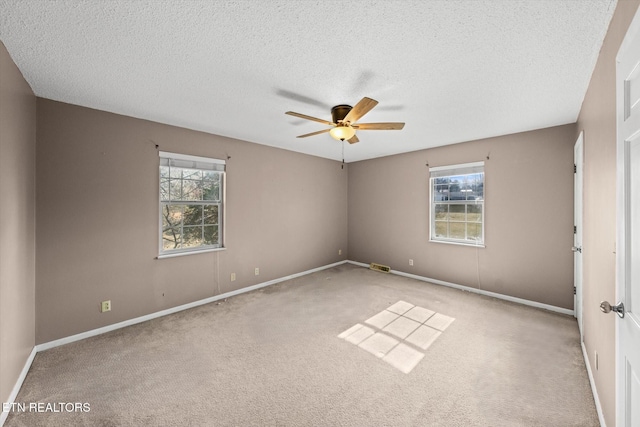
{"label": "window with grassy yard view, right of the far corner", "polygon": [[484,162],[429,169],[431,241],[484,244]]}

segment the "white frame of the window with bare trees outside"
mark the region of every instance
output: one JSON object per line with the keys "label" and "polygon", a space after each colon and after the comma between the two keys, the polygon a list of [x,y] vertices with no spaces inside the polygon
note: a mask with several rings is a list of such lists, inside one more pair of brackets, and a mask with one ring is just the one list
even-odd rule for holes
{"label": "white frame of the window with bare trees outside", "polygon": [[[200,157],[200,156],[192,156],[188,154],[178,154],[178,153],[169,153],[164,151],[159,151],[159,164],[158,164],[158,256],[157,259],[162,258],[171,258],[183,255],[192,255],[192,254],[201,254],[206,252],[216,252],[225,250],[225,208],[226,208],[226,162],[224,160],[210,158],[210,157]],[[219,196],[216,200],[163,200],[162,197],[162,166],[164,162],[169,163],[169,167],[171,167],[171,163],[175,162],[177,165],[174,166],[180,169],[192,169],[192,170],[201,170],[207,172],[213,172],[219,176]],[[172,203],[173,202],[173,203]],[[163,239],[163,210],[165,206],[171,205],[201,205],[203,206],[202,212],[202,227],[205,227],[204,224],[204,206],[218,206],[218,243],[215,245],[201,245],[197,247],[191,248],[177,248],[177,249],[164,249],[164,239]],[[184,227],[184,223],[181,224]],[[204,230],[203,230],[204,231]]]}

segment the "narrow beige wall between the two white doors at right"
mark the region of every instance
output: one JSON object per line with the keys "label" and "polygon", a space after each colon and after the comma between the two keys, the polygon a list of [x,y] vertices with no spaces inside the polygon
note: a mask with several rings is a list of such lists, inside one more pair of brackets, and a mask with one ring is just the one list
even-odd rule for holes
{"label": "narrow beige wall between the two white doors at right", "polygon": [[600,301],[616,299],[615,58],[639,4],[638,0],[618,1],[576,128],[584,130],[585,149],[584,344],[609,426],[615,425],[615,318],[603,315],[599,306]]}

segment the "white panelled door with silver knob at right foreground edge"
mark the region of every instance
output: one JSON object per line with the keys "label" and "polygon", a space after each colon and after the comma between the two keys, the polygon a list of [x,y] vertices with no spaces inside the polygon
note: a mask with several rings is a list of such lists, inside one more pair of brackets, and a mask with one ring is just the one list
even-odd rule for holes
{"label": "white panelled door with silver knob at right foreground edge", "polygon": [[616,425],[631,427],[640,426],[640,10],[616,65]]}

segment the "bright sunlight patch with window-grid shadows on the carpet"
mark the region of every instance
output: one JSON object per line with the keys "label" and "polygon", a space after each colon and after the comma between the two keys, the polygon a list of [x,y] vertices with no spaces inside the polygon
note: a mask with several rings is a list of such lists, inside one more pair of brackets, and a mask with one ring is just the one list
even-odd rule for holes
{"label": "bright sunlight patch with window-grid shadows on the carpet", "polygon": [[424,357],[422,351],[427,350],[454,320],[442,313],[398,301],[365,320],[368,326],[357,323],[338,338],[408,374]]}

